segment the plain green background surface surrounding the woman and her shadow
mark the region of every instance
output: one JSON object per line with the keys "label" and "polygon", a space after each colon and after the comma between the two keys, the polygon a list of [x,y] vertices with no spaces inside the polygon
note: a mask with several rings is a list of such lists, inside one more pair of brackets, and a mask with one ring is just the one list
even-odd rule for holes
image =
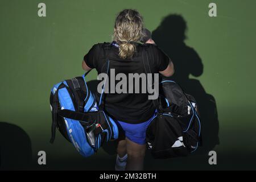
{"label": "plain green background surface surrounding the woman and her shadow", "polygon": [[[46,17],[38,16],[40,2],[46,3]],[[217,17],[208,16],[210,2],[217,4]],[[0,121],[20,127],[29,136],[33,158],[28,168],[113,169],[115,155],[104,150],[83,159],[60,134],[55,144],[49,144],[49,93],[55,83],[84,73],[83,56],[93,44],[112,40],[115,15],[125,8],[139,10],[151,31],[170,14],[183,17],[185,43],[204,65],[199,77],[190,77],[215,98],[218,111],[216,166],[208,164],[207,154],[160,161],[148,155],[146,169],[255,169],[256,1],[1,0]],[[89,80],[94,78],[96,72]],[[14,131],[5,134],[0,134],[1,141],[11,138],[14,155],[22,158],[19,152],[26,149],[15,148],[19,137]],[[36,164],[40,150],[47,153],[46,166]]]}

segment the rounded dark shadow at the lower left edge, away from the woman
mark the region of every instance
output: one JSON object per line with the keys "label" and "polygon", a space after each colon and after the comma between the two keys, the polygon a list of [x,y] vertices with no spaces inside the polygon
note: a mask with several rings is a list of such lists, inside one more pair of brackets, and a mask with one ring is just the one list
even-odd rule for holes
{"label": "rounded dark shadow at the lower left edge, away from the woman", "polygon": [[31,165],[31,140],[20,127],[0,122],[0,169],[28,169]]}

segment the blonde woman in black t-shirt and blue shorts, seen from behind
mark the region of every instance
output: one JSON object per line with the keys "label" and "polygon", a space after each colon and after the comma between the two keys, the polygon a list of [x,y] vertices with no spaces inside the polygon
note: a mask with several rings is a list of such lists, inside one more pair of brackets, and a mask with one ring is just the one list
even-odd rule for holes
{"label": "blonde woman in black t-shirt and blue shorts, seen from behind", "polygon": [[[109,68],[115,69],[115,75],[123,73],[145,73],[142,50],[146,44],[138,43],[144,36],[143,19],[137,10],[121,11],[115,19],[114,42],[95,44],[84,56],[82,68],[85,71],[96,68],[98,74],[106,63],[104,46],[111,45],[108,50]],[[154,41],[152,42],[154,43]],[[170,58],[157,46],[151,46],[153,56],[148,55],[151,73],[161,73],[169,77],[174,73],[174,65]],[[133,88],[136,88],[134,83]],[[141,89],[140,89],[141,90]],[[146,150],[146,129],[155,114],[155,107],[148,100],[146,93],[106,93],[105,111],[117,121],[119,130],[125,138],[120,138],[117,147],[116,170],[142,170]]]}

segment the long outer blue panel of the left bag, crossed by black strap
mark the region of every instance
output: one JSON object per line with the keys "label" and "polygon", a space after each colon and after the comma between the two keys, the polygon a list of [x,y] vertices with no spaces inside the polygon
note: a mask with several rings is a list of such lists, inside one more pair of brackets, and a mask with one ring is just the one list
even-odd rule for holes
{"label": "long outer blue panel of the left bag, crossed by black strap", "polygon": [[[61,109],[69,109],[75,111],[75,107],[73,106],[73,102],[69,96],[68,90],[66,88],[59,89],[58,94]],[[85,157],[94,154],[93,148],[87,142],[84,127],[82,127],[80,122],[69,118],[64,118],[64,120],[69,139],[72,141],[77,151],[79,151],[80,154]]]}

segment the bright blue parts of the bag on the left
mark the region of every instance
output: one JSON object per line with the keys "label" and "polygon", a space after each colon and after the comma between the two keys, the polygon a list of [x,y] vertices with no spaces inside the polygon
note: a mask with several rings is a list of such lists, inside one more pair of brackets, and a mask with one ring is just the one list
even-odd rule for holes
{"label": "bright blue parts of the bag on the left", "polygon": [[[84,77],[84,76],[83,76]],[[98,105],[94,95],[90,92],[85,78],[84,78],[85,86],[86,86],[86,97],[85,97],[85,106],[84,111],[98,111]],[[61,84],[64,84],[66,88],[63,86],[60,87]],[[58,90],[58,97],[59,97],[59,104],[61,109],[73,110],[75,111],[75,106],[73,105],[73,95],[71,90],[68,88],[68,84],[66,81],[59,82],[58,84],[54,85],[51,89],[51,93],[55,94],[56,90]],[[108,129],[103,131],[105,137],[103,138],[102,134],[98,134],[95,136],[95,145],[92,147],[89,143],[88,134],[84,127],[81,125],[83,121],[77,121],[75,119],[63,118],[65,122],[65,126],[63,126],[64,133],[67,133],[67,138],[72,142],[73,146],[76,147],[77,151],[84,156],[88,157],[95,153],[98,148],[101,147],[102,140],[104,139],[106,142],[109,140],[117,139],[118,138],[118,127],[115,121],[110,118],[108,115],[105,114],[104,111],[99,111],[101,113],[101,118],[105,118],[106,124],[108,125]],[[61,130],[62,131],[62,130]]]}

